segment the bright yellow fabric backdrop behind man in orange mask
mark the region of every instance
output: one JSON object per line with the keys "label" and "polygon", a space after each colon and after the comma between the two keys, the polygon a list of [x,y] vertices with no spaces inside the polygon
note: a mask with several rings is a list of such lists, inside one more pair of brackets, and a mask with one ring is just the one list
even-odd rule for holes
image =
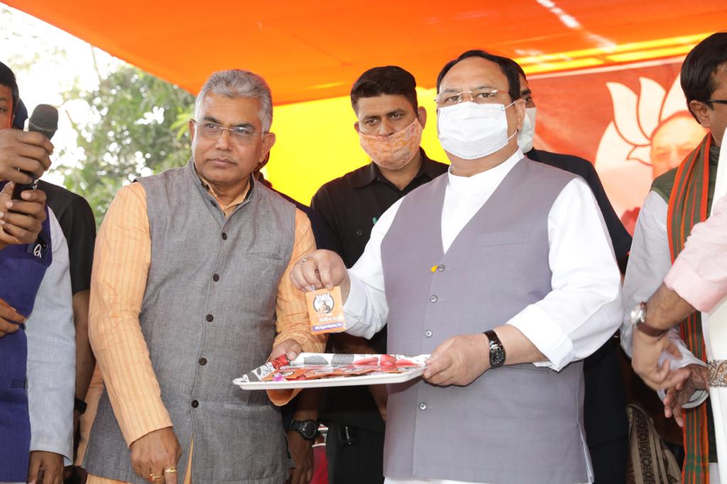
{"label": "bright yellow fabric backdrop behind man in orange mask", "polygon": [[[422,147],[430,158],[449,163],[437,140],[435,89],[417,89],[417,96],[427,110]],[[272,130],[277,141],[266,178],[276,190],[308,205],[325,182],[369,163],[358,144],[355,122],[348,96],[274,108]]]}

